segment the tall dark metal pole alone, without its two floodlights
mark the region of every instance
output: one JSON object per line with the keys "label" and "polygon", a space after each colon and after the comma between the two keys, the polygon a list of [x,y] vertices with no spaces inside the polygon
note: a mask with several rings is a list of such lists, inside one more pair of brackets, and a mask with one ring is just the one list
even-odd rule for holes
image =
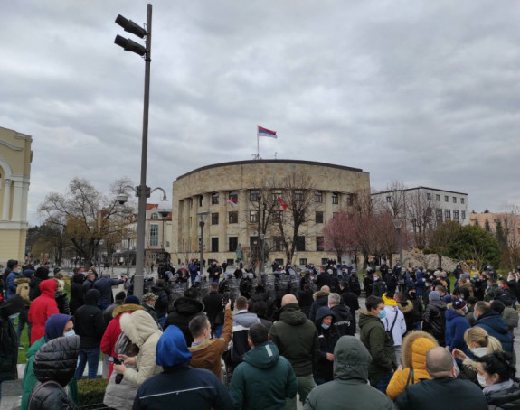
{"label": "tall dark metal pole alone, without its two floodlights", "polygon": [[145,54],[145,98],[143,107],[143,146],[141,148],[141,180],[137,187],[137,244],[136,274],[134,275],[134,294],[143,297],[145,284],[145,227],[147,223],[147,154],[148,154],[148,108],[150,105],[150,62],[152,61],[152,5],[147,5],[147,52]]}

